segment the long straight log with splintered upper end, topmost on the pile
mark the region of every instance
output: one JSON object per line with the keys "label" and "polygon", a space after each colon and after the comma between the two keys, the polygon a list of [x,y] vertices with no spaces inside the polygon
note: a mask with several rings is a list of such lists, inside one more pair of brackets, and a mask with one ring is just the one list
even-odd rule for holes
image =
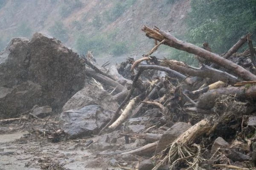
{"label": "long straight log with splintered upper end, topmost on the pile", "polygon": [[191,43],[178,40],[176,37],[167,33],[166,31],[160,30],[159,28],[151,29],[146,26],[144,26],[142,30],[146,33],[146,36],[149,38],[153,38],[158,41],[166,39],[166,41],[163,42],[164,45],[168,45],[170,47],[198,55],[199,57],[209,60],[210,62],[227,68],[227,70],[235,73],[241,79],[247,81],[256,80],[256,76],[254,74],[250,73],[250,71],[247,71],[245,68],[237,65],[236,63],[229,61],[219,56],[218,54],[209,52],[204,48],[200,48]]}

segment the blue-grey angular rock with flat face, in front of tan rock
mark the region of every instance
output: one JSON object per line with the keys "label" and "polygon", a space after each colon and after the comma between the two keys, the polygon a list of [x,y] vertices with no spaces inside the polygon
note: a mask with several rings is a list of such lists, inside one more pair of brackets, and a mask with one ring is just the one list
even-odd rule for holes
{"label": "blue-grey angular rock with flat face, in front of tan rock", "polygon": [[113,116],[112,111],[104,110],[99,105],[84,106],[79,110],[61,113],[61,129],[68,139],[82,138],[99,132],[100,128]]}

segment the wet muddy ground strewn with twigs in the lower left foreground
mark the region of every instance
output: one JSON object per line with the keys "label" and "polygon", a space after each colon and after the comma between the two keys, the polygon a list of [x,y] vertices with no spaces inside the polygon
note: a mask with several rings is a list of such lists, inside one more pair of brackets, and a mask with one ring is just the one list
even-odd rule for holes
{"label": "wet muddy ground strewn with twigs in the lower left foreground", "polygon": [[[0,170],[117,169],[111,164],[117,166],[119,156],[100,154],[99,150],[104,150],[104,147],[98,147],[99,144],[96,144],[104,136],[78,140],[65,140],[64,136],[60,136],[60,142],[54,143],[47,133],[40,132],[46,120],[30,119],[1,123]],[[44,130],[49,132],[57,127],[58,121],[51,119]],[[88,141],[91,140],[93,140],[93,144],[87,146]],[[120,145],[122,145],[122,140],[119,141],[118,146]],[[112,149],[114,151],[114,148]],[[123,163],[119,162],[119,166],[122,166]]]}

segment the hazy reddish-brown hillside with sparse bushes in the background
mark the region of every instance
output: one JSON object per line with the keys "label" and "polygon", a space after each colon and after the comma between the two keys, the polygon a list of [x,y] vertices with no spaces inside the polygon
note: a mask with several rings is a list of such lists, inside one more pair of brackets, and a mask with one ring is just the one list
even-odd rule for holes
{"label": "hazy reddish-brown hillside with sparse bushes in the background", "polygon": [[[174,2],[172,2],[174,1]],[[180,36],[191,0],[3,0],[0,2],[0,49],[11,37],[43,32],[79,53],[98,56],[143,54],[153,41],[143,25]]]}

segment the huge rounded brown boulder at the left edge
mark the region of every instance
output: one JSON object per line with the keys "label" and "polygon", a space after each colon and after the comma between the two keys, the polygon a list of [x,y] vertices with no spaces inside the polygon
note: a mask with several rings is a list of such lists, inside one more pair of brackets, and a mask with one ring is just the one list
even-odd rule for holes
{"label": "huge rounded brown boulder at the left edge", "polygon": [[79,55],[60,41],[35,33],[29,41],[12,39],[0,52],[0,118],[33,105],[62,106],[84,86]]}

